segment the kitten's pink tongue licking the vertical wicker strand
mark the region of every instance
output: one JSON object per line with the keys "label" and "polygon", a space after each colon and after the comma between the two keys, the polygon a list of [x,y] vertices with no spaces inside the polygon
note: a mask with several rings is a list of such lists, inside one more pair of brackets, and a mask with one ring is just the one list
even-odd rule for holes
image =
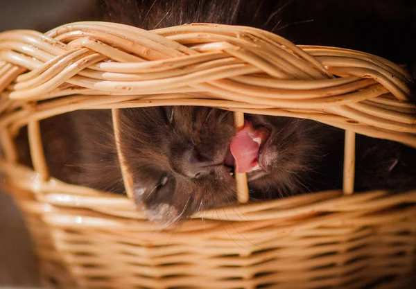
{"label": "kitten's pink tongue licking the vertical wicker strand", "polygon": [[256,130],[246,122],[243,130],[240,130],[232,138],[229,148],[236,161],[236,172],[247,173],[257,166],[260,143],[253,141]]}

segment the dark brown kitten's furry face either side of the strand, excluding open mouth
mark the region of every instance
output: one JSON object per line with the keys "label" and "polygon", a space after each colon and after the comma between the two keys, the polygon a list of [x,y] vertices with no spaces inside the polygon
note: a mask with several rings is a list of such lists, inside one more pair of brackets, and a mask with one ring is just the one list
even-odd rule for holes
{"label": "dark brown kitten's furry face either side of the strand, excluding open mouth", "polygon": [[[246,121],[254,130],[268,131],[259,150],[260,168],[248,173],[254,195],[305,191],[299,178],[313,168],[314,141],[307,135],[312,122],[254,115]],[[135,201],[151,220],[168,225],[236,201],[229,150],[236,134],[232,112],[209,107],[126,109],[120,111],[119,123]]]}

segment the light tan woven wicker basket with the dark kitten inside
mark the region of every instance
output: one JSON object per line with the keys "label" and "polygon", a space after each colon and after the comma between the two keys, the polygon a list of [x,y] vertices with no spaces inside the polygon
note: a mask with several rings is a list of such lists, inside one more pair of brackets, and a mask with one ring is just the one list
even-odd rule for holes
{"label": "light tan woven wicker basket with the dark kitten inside", "polygon": [[[355,133],[416,148],[409,79],[374,55],[248,27],[80,22],[0,33],[3,185],[25,213],[49,288],[399,288],[416,263],[416,191],[351,193]],[[40,120],[155,105],[233,110],[237,127],[245,112],[343,128],[344,192],[204,211],[163,229],[128,198],[49,177]],[[34,169],[17,161],[26,125]]]}

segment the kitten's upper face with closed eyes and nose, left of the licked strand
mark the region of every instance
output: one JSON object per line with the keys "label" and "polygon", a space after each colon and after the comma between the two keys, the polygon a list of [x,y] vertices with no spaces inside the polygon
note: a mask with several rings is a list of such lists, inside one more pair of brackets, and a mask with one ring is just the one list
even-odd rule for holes
{"label": "kitten's upper face with closed eyes and nose, left of the licked strand", "polygon": [[135,200],[149,218],[169,223],[235,199],[234,179],[223,166],[234,134],[232,113],[150,107],[121,110],[119,117]]}

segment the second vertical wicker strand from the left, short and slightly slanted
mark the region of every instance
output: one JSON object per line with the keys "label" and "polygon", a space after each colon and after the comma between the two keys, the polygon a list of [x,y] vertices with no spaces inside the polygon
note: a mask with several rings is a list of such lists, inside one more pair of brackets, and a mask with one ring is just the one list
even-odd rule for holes
{"label": "second vertical wicker strand from the left, short and slightly slanted", "polygon": [[35,171],[39,173],[42,182],[46,182],[49,179],[49,170],[46,165],[39,121],[29,121],[28,138],[33,168],[35,168]]}

